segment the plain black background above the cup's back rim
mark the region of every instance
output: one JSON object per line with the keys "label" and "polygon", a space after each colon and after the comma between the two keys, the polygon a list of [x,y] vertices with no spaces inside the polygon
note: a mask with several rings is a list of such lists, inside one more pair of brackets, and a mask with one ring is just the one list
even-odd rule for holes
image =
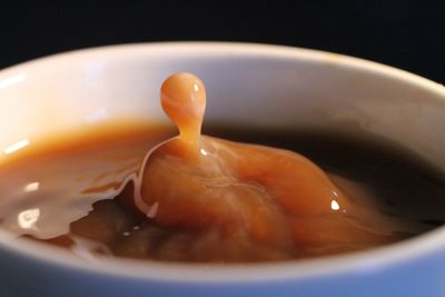
{"label": "plain black background above the cup's back rim", "polygon": [[445,83],[445,1],[108,1],[0,7],[0,68],[126,42],[224,40],[334,51]]}

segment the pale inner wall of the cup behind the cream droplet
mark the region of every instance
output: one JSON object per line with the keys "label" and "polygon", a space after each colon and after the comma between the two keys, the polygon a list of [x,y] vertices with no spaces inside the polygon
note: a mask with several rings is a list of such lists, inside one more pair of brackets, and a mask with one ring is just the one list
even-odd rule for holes
{"label": "pale inner wall of the cup behind the cream droplet", "polygon": [[205,81],[206,122],[372,132],[445,168],[441,86],[354,58],[268,46],[110,47],[7,69],[0,149],[103,120],[166,120],[159,87],[178,71]]}

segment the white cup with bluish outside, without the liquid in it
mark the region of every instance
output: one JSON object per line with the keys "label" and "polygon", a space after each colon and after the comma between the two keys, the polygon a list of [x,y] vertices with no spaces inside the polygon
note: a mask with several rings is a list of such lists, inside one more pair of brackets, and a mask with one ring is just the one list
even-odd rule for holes
{"label": "white cup with bluish outside, without the liquid in it", "polygon": [[[335,53],[208,42],[80,50],[0,71],[0,160],[21,139],[165,120],[158,90],[177,71],[204,79],[206,122],[370,132],[445,170],[443,86]],[[444,296],[444,273],[445,228],[345,256],[227,266],[86,260],[0,230],[0,296]]]}

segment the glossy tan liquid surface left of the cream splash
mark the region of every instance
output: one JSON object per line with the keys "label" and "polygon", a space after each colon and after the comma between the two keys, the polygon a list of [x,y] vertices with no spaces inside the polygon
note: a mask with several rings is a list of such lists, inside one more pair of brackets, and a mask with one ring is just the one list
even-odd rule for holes
{"label": "glossy tan liquid surface left of the cream splash", "polygon": [[31,141],[0,160],[1,226],[39,238],[69,231],[92,202],[115,197],[146,152],[172,135],[168,126],[121,122]]}

